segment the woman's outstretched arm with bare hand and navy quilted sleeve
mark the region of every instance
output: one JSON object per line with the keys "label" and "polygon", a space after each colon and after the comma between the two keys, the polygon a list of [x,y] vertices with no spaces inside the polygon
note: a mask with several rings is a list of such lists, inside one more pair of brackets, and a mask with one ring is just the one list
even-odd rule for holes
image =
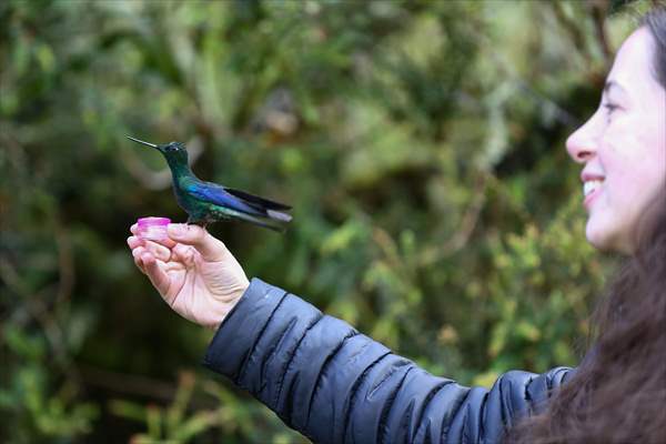
{"label": "woman's outstretched arm with bare hand and navy quilted sleeve", "polygon": [[[132,226],[135,234],[135,226]],[[258,279],[193,225],[128,239],[137,266],[182,316],[218,329],[205,364],[317,443],[494,443],[571,373],[508,372],[490,391],[436,377],[343,321]]]}

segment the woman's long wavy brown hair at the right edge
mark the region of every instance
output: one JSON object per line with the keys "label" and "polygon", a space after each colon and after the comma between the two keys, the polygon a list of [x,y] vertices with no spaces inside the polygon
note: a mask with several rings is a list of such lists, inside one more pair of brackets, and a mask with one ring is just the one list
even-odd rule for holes
{"label": "woman's long wavy brown hair at the right edge", "polygon": [[[666,4],[640,26],[656,43],[652,69],[666,91]],[[666,443],[666,190],[634,239],[634,254],[592,315],[592,346],[576,374],[505,443]]]}

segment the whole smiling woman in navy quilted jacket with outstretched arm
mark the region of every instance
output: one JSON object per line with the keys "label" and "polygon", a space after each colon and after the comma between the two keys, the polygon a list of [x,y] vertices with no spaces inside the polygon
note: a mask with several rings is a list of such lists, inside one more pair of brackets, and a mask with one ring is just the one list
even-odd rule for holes
{"label": "whole smiling woman in navy quilted jacket with outstretched arm", "polygon": [[587,240],[628,262],[578,369],[512,371],[490,391],[433,376],[297,296],[249,282],[199,226],[128,244],[173,310],[218,330],[205,365],[314,442],[664,442],[665,8],[624,42],[599,109],[567,150],[584,165]]}

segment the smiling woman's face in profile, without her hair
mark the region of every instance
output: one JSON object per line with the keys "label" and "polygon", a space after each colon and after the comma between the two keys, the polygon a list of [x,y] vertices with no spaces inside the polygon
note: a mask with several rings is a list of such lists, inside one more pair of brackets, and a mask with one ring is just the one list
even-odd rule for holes
{"label": "smiling woman's face in profile, without her hair", "polygon": [[585,234],[602,251],[634,252],[632,229],[666,185],[666,90],[653,73],[654,44],[645,28],[629,36],[599,108],[566,141],[584,164]]}

